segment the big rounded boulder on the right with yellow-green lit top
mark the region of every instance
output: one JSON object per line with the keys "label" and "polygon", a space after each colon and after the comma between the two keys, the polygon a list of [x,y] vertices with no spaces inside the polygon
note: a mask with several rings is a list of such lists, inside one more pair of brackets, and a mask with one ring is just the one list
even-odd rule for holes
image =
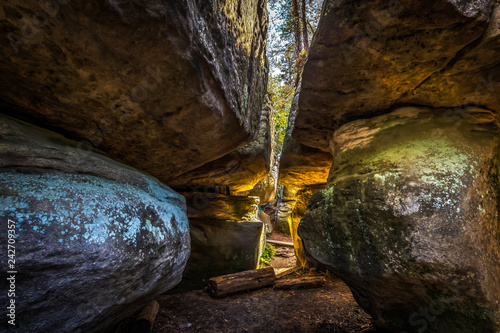
{"label": "big rounded boulder on the right with yellow-green lit top", "polygon": [[500,329],[498,117],[457,114],[405,107],[340,127],[298,227],[389,332]]}

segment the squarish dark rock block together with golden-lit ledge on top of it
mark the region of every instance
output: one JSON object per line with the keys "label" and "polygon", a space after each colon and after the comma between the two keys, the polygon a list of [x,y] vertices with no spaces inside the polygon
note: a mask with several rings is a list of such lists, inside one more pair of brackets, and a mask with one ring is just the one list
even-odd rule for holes
{"label": "squarish dark rock block together with golden-lit ledge on top of it", "polygon": [[212,277],[257,268],[265,247],[259,198],[195,191],[186,197],[191,256],[172,290],[203,289]]}

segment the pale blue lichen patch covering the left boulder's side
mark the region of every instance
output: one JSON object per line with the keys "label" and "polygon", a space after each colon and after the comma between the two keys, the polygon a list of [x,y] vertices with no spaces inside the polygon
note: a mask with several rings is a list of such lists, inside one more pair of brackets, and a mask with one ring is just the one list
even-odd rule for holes
{"label": "pale blue lichen patch covering the left boulder's side", "polygon": [[155,180],[142,189],[82,174],[2,176],[9,190],[0,192],[0,207],[19,223],[19,231],[50,232],[68,246],[72,241],[103,244],[118,238],[136,246],[138,237],[162,242],[169,235],[188,233],[184,201]]}

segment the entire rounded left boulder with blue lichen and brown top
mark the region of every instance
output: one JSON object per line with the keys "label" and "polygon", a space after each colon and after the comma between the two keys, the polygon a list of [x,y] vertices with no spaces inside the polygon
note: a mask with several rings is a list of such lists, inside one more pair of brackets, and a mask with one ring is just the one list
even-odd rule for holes
{"label": "entire rounded left boulder with blue lichen and brown top", "polygon": [[16,222],[23,331],[102,332],[180,281],[190,248],[182,196],[5,116],[0,141],[0,215]]}

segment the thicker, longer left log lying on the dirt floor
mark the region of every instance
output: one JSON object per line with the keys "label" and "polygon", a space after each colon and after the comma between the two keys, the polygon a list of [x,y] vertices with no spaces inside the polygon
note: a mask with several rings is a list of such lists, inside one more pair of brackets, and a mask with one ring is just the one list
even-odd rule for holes
{"label": "thicker, longer left log lying on the dirt floor", "polygon": [[208,287],[212,297],[221,298],[240,291],[271,286],[275,280],[274,268],[267,267],[211,278]]}

